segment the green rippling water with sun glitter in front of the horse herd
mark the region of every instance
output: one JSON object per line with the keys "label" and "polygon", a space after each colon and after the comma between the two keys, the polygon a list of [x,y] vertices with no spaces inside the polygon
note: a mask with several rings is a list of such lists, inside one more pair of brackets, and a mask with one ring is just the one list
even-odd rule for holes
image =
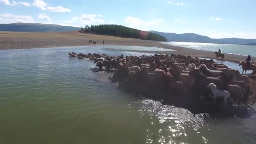
{"label": "green rippling water with sun glitter in front of the horse herd", "polygon": [[[128,46],[116,46],[130,48]],[[212,118],[124,93],[93,61],[68,52],[142,55],[105,47],[0,51],[0,144],[252,144],[247,118]],[[142,49],[142,48],[141,48]]]}

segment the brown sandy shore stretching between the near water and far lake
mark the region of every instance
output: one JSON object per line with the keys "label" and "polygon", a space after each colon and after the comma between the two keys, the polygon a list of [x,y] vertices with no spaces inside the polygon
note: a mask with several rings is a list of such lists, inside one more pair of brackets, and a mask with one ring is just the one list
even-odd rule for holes
{"label": "brown sandy shore stretching between the near water and far lake", "polygon": [[[200,51],[190,48],[164,45],[159,41],[139,40],[104,35],[91,35],[79,32],[0,32],[0,50],[90,45],[88,44],[88,40],[96,40],[99,44],[101,44],[102,40],[104,40],[105,44],[108,45],[155,46],[176,50],[154,52],[147,51],[149,53],[173,53],[210,59],[215,58],[215,54],[211,51]],[[246,59],[246,56],[227,53],[224,54],[224,60],[226,61],[238,63],[239,61]],[[256,58],[253,58],[253,60],[256,60]]]}

